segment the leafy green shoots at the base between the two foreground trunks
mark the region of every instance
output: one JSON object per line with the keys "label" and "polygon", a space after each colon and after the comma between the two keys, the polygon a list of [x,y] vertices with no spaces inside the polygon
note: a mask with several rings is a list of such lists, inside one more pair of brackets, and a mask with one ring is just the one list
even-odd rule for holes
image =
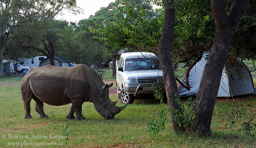
{"label": "leafy green shoots at the base between the two foreground trunks", "polygon": [[180,125],[180,128],[185,128],[185,134],[193,136],[198,124],[198,120],[193,114],[195,110],[195,100],[190,97],[186,103],[184,103],[179,97],[177,97],[177,95],[175,95],[175,102],[179,108],[174,109],[172,107],[170,109],[171,113],[175,115],[174,120]]}

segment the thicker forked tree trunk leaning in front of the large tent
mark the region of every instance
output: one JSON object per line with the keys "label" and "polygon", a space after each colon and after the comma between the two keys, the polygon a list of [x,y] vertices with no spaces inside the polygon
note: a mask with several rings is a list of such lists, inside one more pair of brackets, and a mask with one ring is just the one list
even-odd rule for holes
{"label": "thicker forked tree trunk leaning in front of the large tent", "polygon": [[198,119],[197,130],[203,135],[211,133],[213,109],[230,44],[249,1],[234,0],[230,11],[226,14],[223,0],[211,0],[216,33],[197,93],[194,114]]}

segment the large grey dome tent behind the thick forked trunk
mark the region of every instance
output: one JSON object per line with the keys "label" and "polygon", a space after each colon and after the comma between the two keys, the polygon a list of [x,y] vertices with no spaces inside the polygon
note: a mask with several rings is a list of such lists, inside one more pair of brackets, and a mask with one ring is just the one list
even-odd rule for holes
{"label": "large grey dome tent behind the thick forked trunk", "polygon": [[[192,87],[190,88],[190,91],[183,86],[179,87],[179,94],[181,97],[196,97],[208,55],[209,52],[205,52],[202,59],[189,72],[188,82]],[[182,83],[186,85],[185,76],[183,81],[184,82]],[[232,65],[226,63],[222,72],[221,84],[219,86],[217,97],[232,97],[235,95],[254,93],[255,88],[252,75],[247,66],[238,59],[234,61]]]}

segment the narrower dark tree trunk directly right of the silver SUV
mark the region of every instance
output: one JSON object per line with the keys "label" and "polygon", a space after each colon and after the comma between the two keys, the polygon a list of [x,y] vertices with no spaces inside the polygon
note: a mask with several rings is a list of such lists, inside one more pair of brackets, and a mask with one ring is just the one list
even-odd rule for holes
{"label": "narrower dark tree trunk directly right of the silver SUV", "polygon": [[[179,96],[178,87],[175,80],[172,61],[170,57],[170,45],[174,34],[175,8],[173,1],[163,0],[165,5],[165,20],[163,23],[161,39],[158,44],[159,60],[162,66],[163,78],[165,79],[165,89],[169,108],[178,109],[175,102],[175,94]],[[181,128],[174,120],[175,115],[171,113],[172,126],[175,133]]]}

